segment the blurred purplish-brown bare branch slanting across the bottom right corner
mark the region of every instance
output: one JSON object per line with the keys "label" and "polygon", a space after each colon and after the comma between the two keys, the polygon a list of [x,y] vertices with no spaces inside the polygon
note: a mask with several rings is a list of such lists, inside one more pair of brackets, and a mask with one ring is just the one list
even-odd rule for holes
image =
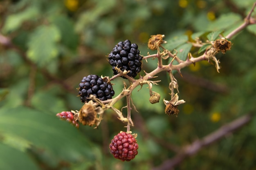
{"label": "blurred purplish-brown bare branch slanting across the bottom right corner", "polygon": [[252,114],[247,114],[239,117],[238,119],[235,119],[234,121],[231,121],[229,124],[220,127],[218,130],[212,132],[201,140],[196,140],[192,144],[185,146],[174,158],[164,161],[161,166],[155,167],[152,170],[170,170],[174,168],[182,161],[184,161],[184,159],[186,159],[187,157],[195,155],[204,146],[209,146],[210,144],[213,144],[222,137],[225,137],[229,133],[241,128],[251,120]]}

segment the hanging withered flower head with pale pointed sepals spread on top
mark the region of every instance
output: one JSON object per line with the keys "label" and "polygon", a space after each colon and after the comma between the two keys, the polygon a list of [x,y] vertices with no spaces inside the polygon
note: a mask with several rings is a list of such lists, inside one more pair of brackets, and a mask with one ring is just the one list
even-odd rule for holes
{"label": "hanging withered flower head with pale pointed sepals spread on top", "polygon": [[178,109],[178,106],[183,103],[185,103],[185,101],[183,99],[179,100],[179,96],[177,93],[174,95],[174,97],[170,101],[167,101],[164,99],[164,104],[166,105],[164,110],[165,114],[177,116],[178,113],[180,112],[180,110]]}

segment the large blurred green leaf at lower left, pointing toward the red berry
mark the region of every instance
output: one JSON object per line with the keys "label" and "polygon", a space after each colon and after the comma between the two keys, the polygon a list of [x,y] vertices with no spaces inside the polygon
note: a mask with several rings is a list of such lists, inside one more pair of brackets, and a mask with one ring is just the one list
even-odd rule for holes
{"label": "large blurred green leaf at lower left, pointing toward the red berry", "polygon": [[23,106],[1,108],[0,132],[29,141],[31,145],[44,148],[59,159],[93,159],[90,152],[92,144],[74,126],[59,120],[55,114],[49,115]]}

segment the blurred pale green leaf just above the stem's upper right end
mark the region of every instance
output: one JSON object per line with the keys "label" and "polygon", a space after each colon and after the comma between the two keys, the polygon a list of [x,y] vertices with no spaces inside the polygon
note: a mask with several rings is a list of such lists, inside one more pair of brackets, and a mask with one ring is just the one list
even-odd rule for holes
{"label": "blurred pale green leaf just above the stem's upper right end", "polygon": [[242,17],[236,13],[222,14],[218,19],[208,25],[208,30],[227,29],[228,27],[236,24],[236,22],[240,22],[241,20]]}

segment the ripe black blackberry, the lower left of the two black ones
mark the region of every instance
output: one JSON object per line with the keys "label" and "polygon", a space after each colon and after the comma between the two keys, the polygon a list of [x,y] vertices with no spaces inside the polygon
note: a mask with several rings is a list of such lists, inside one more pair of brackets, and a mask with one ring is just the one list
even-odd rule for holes
{"label": "ripe black blackberry, the lower left of the two black ones", "polygon": [[79,84],[78,95],[81,97],[81,102],[89,102],[90,95],[96,96],[100,100],[112,99],[115,91],[110,83],[104,81],[98,75],[88,75],[83,77]]}

